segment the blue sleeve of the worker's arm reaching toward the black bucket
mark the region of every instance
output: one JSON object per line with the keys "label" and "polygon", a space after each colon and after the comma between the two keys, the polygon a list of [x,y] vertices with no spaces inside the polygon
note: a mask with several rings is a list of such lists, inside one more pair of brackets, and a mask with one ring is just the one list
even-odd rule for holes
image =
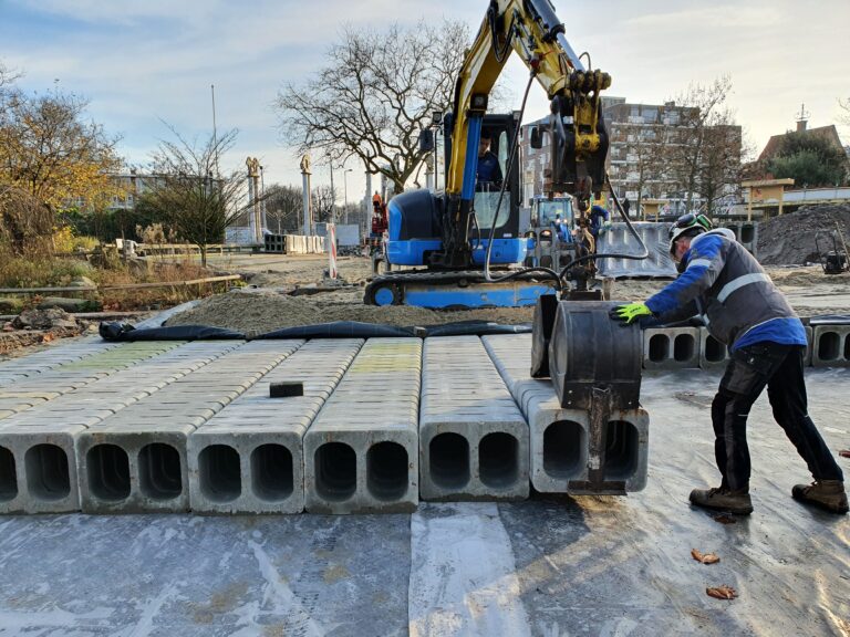
{"label": "blue sleeve of the worker's arm reaching toward the black bucket", "polygon": [[646,301],[653,314],[666,316],[684,310],[708,288],[714,285],[726,264],[724,240],[719,234],[708,234],[685,254],[685,271],[657,294]]}

